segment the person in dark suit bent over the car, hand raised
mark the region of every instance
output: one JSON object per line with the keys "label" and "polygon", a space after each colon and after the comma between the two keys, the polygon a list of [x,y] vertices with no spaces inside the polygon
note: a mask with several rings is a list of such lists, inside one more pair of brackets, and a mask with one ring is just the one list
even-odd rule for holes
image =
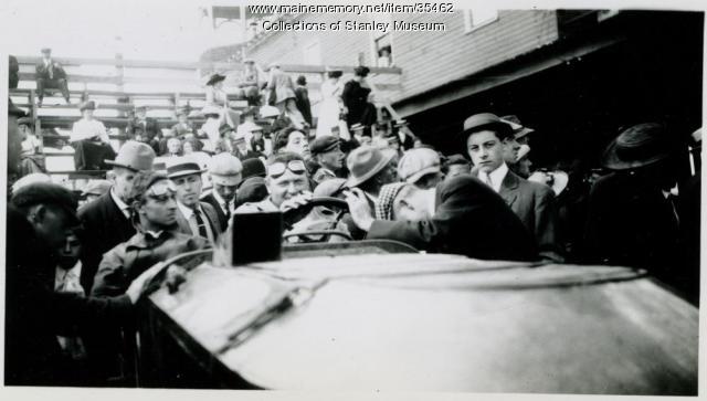
{"label": "person in dark suit bent over the car, hand raised", "polygon": [[369,240],[395,240],[428,252],[483,260],[538,257],[532,236],[504,200],[471,176],[430,189],[405,184],[392,201],[395,221],[373,220],[359,189],[346,198],[354,222]]}

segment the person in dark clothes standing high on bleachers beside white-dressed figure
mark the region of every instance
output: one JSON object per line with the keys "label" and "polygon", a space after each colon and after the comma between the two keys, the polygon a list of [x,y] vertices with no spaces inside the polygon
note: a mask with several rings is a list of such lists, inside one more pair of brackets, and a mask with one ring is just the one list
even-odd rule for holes
{"label": "person in dark clothes standing high on bleachers beside white-dressed figure", "polygon": [[359,123],[367,129],[378,119],[376,106],[369,102],[371,87],[366,81],[370,70],[358,66],[354,70],[354,78],[344,85],[341,99],[344,101],[346,123],[349,127]]}

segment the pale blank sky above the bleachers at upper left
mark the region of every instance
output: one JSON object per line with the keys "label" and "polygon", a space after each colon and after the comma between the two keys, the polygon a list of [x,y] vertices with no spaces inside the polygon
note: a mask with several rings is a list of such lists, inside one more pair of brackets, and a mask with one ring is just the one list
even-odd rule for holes
{"label": "pale blank sky above the bleachers at upper left", "polygon": [[67,57],[198,61],[210,48],[238,43],[241,23],[213,30],[200,7],[210,0],[2,0],[3,52]]}

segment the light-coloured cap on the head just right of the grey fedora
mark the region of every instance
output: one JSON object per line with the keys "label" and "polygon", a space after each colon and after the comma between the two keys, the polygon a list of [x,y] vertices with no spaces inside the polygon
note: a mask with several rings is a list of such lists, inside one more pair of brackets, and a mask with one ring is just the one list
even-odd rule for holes
{"label": "light-coloured cap on the head just right of the grey fedora", "polygon": [[398,176],[420,189],[434,188],[443,178],[440,155],[428,148],[410,149],[398,163]]}

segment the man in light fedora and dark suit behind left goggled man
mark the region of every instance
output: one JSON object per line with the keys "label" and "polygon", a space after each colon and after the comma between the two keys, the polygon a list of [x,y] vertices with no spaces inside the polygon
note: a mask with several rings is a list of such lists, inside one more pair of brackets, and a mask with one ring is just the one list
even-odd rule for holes
{"label": "man in light fedora and dark suit behind left goggled man", "polygon": [[151,170],[154,160],[152,148],[128,140],[115,160],[106,160],[107,165],[113,166],[110,190],[78,209],[78,219],[87,234],[82,253],[82,273],[85,273],[85,276],[82,275],[82,285],[86,292],[93,286],[103,254],[135,234],[128,197],[133,190],[135,175],[138,171]]}

